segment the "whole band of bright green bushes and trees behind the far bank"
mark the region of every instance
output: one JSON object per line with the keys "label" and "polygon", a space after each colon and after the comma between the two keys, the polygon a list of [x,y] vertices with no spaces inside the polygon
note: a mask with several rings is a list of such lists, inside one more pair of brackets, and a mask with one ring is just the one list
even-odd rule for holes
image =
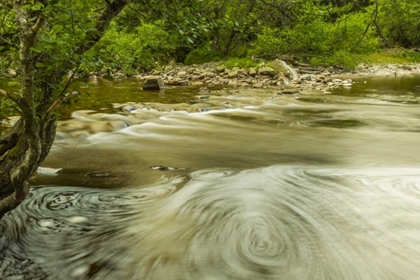
{"label": "whole band of bright green bushes and trees behind the far bank", "polygon": [[90,52],[87,68],[130,74],[170,58],[195,64],[285,54],[353,67],[384,46],[419,46],[419,18],[416,0],[139,0]]}

